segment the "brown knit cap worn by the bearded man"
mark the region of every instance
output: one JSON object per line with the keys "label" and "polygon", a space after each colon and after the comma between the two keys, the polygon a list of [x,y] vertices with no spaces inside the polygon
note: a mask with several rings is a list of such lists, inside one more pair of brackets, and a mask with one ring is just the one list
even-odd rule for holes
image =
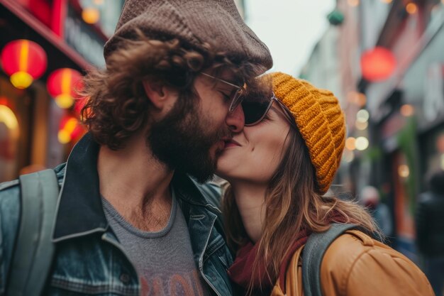
{"label": "brown knit cap worn by the bearded man", "polygon": [[135,28],[156,40],[178,38],[196,50],[209,43],[234,61],[262,65],[264,72],[273,64],[233,0],[126,0],[116,32],[105,44],[105,60],[122,40],[135,38]]}

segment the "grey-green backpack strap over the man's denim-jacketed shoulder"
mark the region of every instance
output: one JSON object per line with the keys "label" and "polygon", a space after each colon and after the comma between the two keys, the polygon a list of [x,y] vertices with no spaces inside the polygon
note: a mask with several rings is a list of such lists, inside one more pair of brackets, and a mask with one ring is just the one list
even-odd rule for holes
{"label": "grey-green backpack strap over the man's denim-jacketed shoulder", "polygon": [[19,177],[21,220],[6,295],[40,295],[52,264],[59,185],[54,170]]}

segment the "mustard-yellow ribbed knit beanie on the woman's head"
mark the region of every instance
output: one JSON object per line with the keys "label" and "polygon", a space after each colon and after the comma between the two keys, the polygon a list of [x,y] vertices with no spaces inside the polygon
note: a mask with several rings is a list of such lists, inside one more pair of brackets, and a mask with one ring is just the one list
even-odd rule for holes
{"label": "mustard-yellow ribbed knit beanie on the woman's head", "polygon": [[309,148],[318,189],[324,194],[333,182],[345,145],[345,117],[338,99],[326,89],[281,72],[271,77],[274,94],[292,112]]}

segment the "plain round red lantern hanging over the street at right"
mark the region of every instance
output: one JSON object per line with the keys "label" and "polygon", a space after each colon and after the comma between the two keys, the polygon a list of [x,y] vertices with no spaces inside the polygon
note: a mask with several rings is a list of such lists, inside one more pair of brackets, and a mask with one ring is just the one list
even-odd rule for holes
{"label": "plain round red lantern hanging over the street at right", "polygon": [[386,80],[396,68],[396,57],[387,48],[376,47],[361,56],[362,77],[371,82]]}

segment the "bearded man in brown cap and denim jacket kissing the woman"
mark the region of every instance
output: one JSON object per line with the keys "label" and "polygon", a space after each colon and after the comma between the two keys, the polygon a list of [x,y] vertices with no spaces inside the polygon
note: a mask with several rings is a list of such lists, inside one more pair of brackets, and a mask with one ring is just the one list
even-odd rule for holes
{"label": "bearded man in brown cap and denim jacket kissing the woman", "polygon": [[[89,133],[67,164],[44,295],[231,295],[218,154],[243,128],[245,83],[272,65],[232,0],[128,0],[85,79]],[[0,292],[20,213],[0,192]],[[6,287],[7,288],[7,287]],[[7,292],[6,292],[7,293]]]}

